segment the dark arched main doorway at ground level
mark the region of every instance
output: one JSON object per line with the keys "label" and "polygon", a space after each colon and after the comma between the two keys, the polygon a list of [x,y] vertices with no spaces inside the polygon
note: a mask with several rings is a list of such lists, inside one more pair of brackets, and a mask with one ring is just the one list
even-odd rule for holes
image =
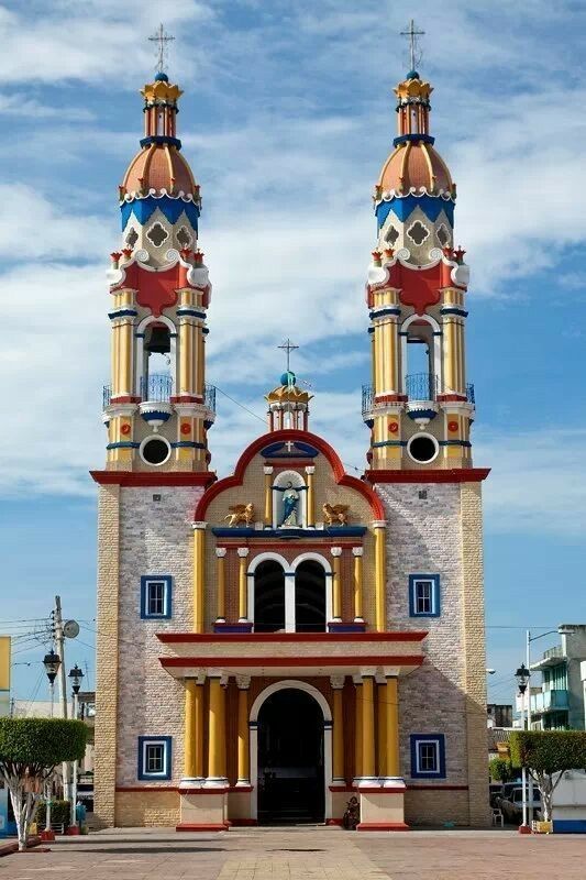
{"label": "dark arched main doorway at ground level", "polygon": [[258,714],[258,822],[323,822],[323,713],[305,691],[277,691]]}

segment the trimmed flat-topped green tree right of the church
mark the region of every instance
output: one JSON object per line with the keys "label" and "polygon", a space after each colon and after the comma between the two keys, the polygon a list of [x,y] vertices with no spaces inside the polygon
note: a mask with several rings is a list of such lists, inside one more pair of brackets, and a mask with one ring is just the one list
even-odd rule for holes
{"label": "trimmed flat-topped green tree right of the church", "polygon": [[[552,817],[552,800],[564,770],[586,770],[583,730],[516,730],[510,737],[511,760],[526,767],[538,783],[543,820]],[[554,779],[554,776],[557,778]]]}

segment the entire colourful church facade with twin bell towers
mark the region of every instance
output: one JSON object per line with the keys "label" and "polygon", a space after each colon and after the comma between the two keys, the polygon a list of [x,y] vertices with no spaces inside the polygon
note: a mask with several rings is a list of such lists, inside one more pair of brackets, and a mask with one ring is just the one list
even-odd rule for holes
{"label": "entire colourful church facade with twin bell towers", "polygon": [[395,92],[366,283],[364,475],[311,432],[311,395],[287,369],[266,432],[219,480],[181,92],[164,73],[142,90],[109,273],[107,460],[92,472],[106,826],[340,824],[352,796],[360,831],[487,823],[488,471],[469,439],[468,268],[431,86],[411,70]]}

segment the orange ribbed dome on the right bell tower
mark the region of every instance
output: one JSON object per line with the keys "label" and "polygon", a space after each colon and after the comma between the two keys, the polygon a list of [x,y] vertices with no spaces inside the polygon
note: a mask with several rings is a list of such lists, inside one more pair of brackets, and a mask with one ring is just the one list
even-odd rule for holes
{"label": "orange ribbed dome on the right bell tower", "polygon": [[408,142],[397,146],[383,165],[378,178],[378,193],[409,193],[427,189],[428,193],[452,193],[453,183],[447,165],[430,143]]}

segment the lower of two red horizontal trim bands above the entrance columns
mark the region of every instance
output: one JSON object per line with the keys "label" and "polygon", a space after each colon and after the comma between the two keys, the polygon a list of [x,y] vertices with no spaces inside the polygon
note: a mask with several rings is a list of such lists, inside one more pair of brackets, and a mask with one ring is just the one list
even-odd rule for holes
{"label": "lower of two red horizontal trim bands above the entrance columns", "polygon": [[401,666],[420,667],[422,654],[368,654],[366,657],[349,654],[347,657],[159,657],[164,669],[181,667],[209,667],[225,669],[226,667],[345,667],[345,666]]}

